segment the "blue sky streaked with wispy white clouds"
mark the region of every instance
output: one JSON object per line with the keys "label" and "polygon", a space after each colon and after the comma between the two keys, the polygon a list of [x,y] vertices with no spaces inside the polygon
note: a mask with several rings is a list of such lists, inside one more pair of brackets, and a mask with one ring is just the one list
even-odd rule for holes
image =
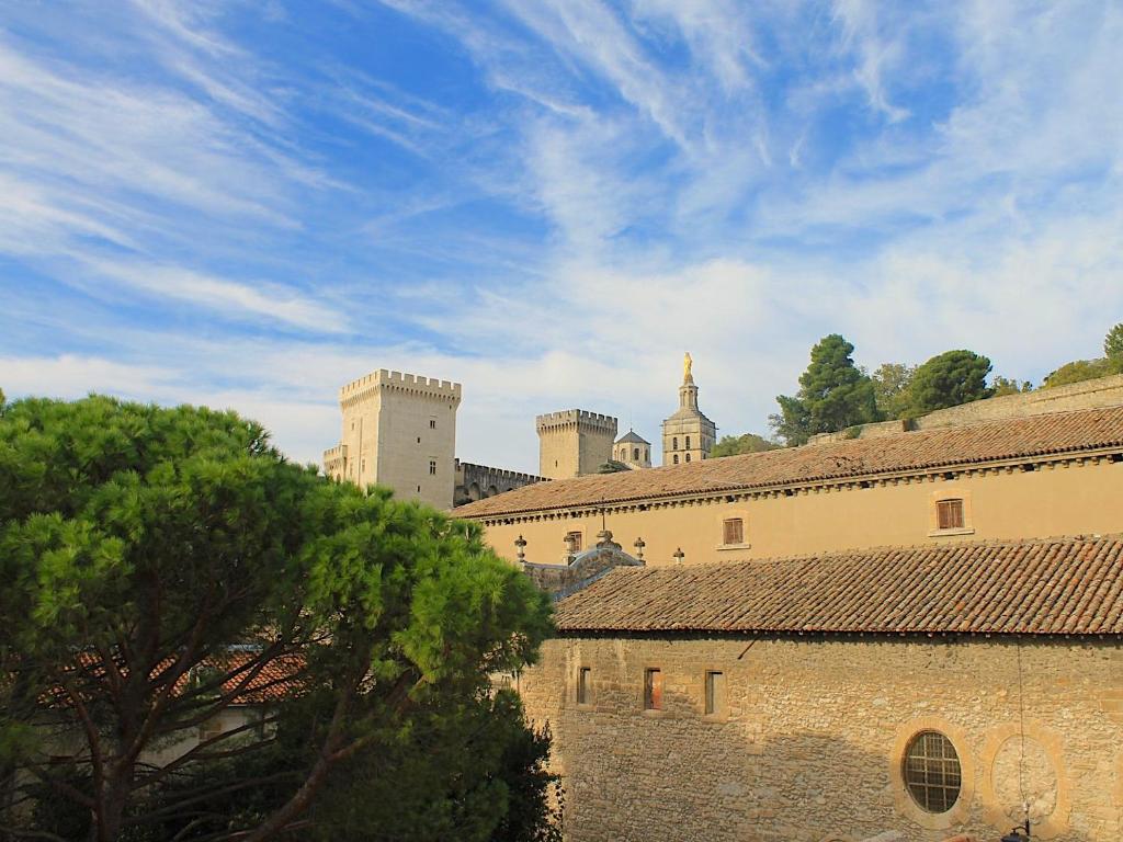
{"label": "blue sky streaked with wispy white clouds", "polygon": [[0,387],[231,406],[292,457],[375,368],[655,441],[811,345],[1039,381],[1123,320],[1117,2],[0,9]]}

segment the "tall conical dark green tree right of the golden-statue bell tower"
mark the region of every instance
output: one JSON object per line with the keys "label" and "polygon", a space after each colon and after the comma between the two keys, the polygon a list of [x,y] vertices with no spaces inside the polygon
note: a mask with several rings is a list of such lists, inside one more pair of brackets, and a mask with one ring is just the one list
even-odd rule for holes
{"label": "tall conical dark green tree right of the golden-statue bell tower", "polygon": [[838,333],[823,337],[811,349],[796,396],[777,396],[780,412],[769,422],[788,445],[879,419],[874,384],[853,364],[852,353],[853,346]]}

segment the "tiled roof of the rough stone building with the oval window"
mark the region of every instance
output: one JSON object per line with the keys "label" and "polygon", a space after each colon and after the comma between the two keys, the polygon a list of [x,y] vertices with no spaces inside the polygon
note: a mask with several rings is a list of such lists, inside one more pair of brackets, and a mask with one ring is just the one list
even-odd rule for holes
{"label": "tiled roof of the rough stone building with the oval window", "polygon": [[558,631],[1123,634],[1123,536],[623,567]]}

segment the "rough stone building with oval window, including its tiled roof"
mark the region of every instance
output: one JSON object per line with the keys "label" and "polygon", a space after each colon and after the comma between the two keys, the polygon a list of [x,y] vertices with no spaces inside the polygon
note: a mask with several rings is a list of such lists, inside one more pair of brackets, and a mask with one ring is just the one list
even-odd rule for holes
{"label": "rough stone building with oval window, including its tiled roof", "polygon": [[1119,536],[630,566],[556,619],[517,686],[569,842],[1123,833]]}

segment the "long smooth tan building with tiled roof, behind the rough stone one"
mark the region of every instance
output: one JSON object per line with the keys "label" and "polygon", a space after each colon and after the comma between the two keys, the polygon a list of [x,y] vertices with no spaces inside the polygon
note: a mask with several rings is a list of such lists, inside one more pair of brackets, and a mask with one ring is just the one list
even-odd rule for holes
{"label": "long smooth tan building with tiled roof, behind the rough stone one", "polygon": [[603,522],[658,566],[1108,533],[1121,500],[1123,406],[1111,406],[565,479],[456,514],[512,560],[519,536],[554,559]]}

